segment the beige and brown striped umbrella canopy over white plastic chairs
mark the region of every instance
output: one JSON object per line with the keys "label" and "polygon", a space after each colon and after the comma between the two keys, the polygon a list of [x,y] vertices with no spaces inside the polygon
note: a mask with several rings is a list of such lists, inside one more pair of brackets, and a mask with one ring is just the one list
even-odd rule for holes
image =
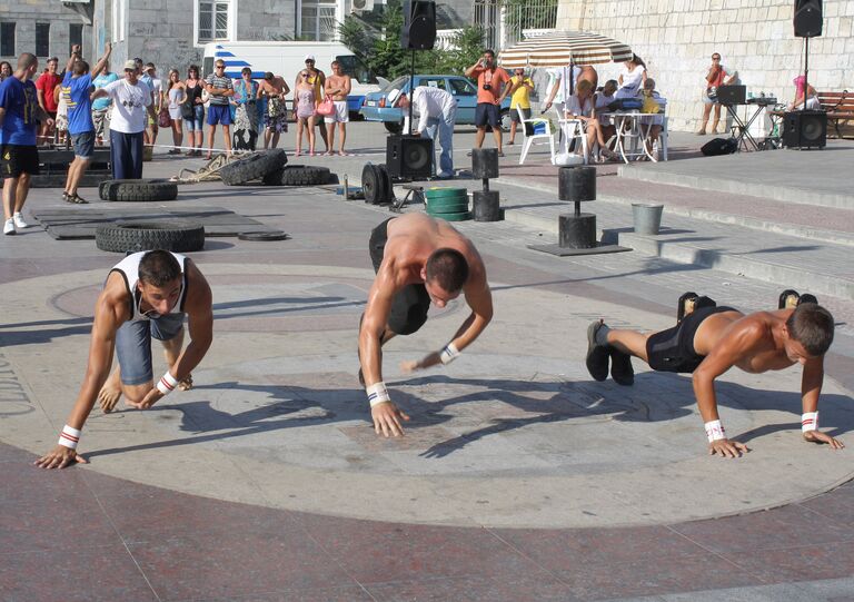
{"label": "beige and brown striped umbrella canopy over white plastic chairs", "polygon": [[632,58],[632,49],[598,33],[555,31],[528,38],[503,50],[498,62],[505,69],[518,67],[566,67],[623,62]]}

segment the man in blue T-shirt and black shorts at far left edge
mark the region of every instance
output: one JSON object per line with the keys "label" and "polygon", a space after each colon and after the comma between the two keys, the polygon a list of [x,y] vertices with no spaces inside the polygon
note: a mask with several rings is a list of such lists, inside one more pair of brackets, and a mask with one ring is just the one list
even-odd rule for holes
{"label": "man in blue T-shirt and black shorts at far left edge", "polygon": [[0,171],[3,177],[3,234],[26,228],[21,209],[30,191],[30,176],[39,172],[36,128],[40,119],[49,127],[53,119],[39,107],[32,76],[39,59],[24,52],[18,69],[0,83]]}

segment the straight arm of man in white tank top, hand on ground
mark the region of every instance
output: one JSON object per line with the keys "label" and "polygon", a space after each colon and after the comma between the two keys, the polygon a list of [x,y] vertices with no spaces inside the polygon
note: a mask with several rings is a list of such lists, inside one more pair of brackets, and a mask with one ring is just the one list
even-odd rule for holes
{"label": "straight arm of man in white tank top, hand on ground", "polygon": [[[121,276],[117,274],[112,276],[121,279]],[[115,285],[118,284],[108,280],[107,288],[98,297],[95,309],[95,324],[92,325],[92,337],[89,345],[89,362],[86,366],[86,376],[80,386],[80,393],[77,396],[77,402],[75,402],[75,407],[71,409],[68,422],[62,428],[59,443],[50,453],[36,461],[37,466],[42,468],[64,468],[76,462],[86,462],[77,453],[80,431],[82,431],[83,424],[89,417],[92,406],[95,406],[98,393],[110,375],[112,353],[116,347],[116,332],[125,322],[122,313],[127,310],[127,302],[120,303],[113,295]]]}

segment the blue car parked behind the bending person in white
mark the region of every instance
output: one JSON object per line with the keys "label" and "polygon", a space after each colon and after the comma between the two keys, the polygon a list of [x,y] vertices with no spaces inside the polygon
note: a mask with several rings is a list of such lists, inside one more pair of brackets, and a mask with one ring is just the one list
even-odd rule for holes
{"label": "blue car parked behind the bending person in white", "polygon": [[[475,122],[475,107],[477,106],[477,88],[463,76],[415,76],[415,86],[433,86],[448,90],[457,101],[457,125],[470,126]],[[400,134],[404,129],[404,111],[389,107],[388,92],[394,89],[404,92],[409,91],[409,76],[401,76],[388,83],[378,92],[369,92],[365,96],[359,112],[368,121],[383,121],[391,134]],[[510,99],[502,102],[502,129],[510,128]]]}

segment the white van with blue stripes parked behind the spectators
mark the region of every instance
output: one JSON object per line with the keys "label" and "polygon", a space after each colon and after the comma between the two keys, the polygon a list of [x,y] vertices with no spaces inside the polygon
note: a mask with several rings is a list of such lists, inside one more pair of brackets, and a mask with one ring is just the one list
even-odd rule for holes
{"label": "white van with blue stripes parked behind the spectators", "polygon": [[265,72],[272,71],[285,78],[292,89],[297,73],[306,67],[306,55],[314,55],[316,67],[327,76],[331,73],[331,62],[337,60],[344,72],[352,78],[352,88],[347,97],[351,117],[359,116],[366,93],[379,90],[377,78],[339,42],[210,42],[205,45],[202,77],[214,72],[215,60],[222,59],[226,75],[232,79],[240,79],[240,71],[249,67],[252,79],[264,79]]}

